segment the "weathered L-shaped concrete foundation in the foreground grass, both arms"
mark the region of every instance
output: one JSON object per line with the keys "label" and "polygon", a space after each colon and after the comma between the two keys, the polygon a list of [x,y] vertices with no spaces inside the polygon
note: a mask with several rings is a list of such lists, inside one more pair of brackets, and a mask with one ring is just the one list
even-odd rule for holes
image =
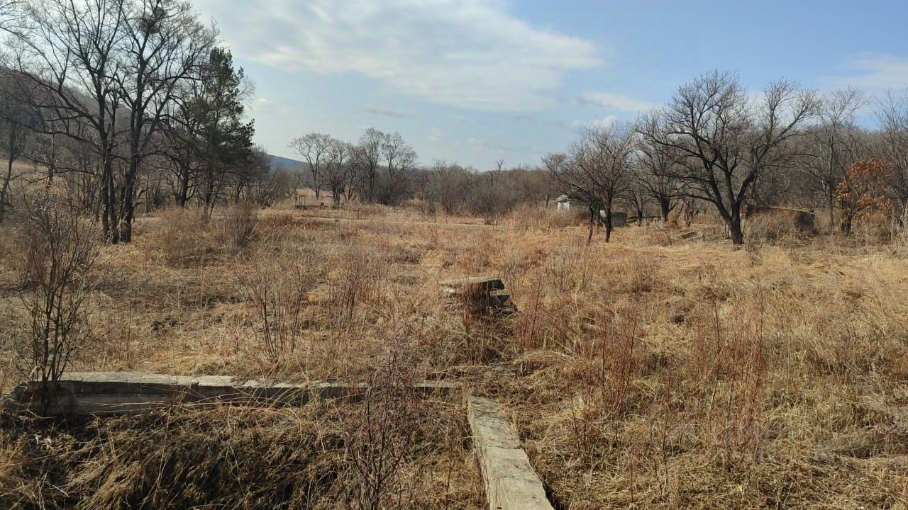
{"label": "weathered L-shaped concrete foundation in the foreground grass, both arms", "polygon": [[[73,372],[61,378],[44,416],[105,416],[181,403],[298,406],[311,398],[355,400],[366,388],[325,381],[272,383],[225,376]],[[40,413],[38,389],[35,383],[15,387],[2,405],[14,412]],[[415,389],[422,395],[438,397],[452,397],[462,391],[459,384],[442,381],[423,381]],[[489,509],[553,510],[542,481],[498,402],[469,397],[467,413]]]}

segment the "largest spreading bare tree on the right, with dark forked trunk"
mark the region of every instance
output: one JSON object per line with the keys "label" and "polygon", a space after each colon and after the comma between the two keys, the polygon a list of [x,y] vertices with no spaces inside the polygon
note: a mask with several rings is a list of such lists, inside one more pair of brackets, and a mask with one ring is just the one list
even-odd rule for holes
{"label": "largest spreading bare tree on the right, with dark forked trunk", "polygon": [[684,164],[676,176],[684,192],[715,205],[732,242],[742,244],[748,191],[762,172],[790,160],[787,142],[804,134],[818,106],[814,92],[785,81],[769,85],[752,102],[735,74],[714,72],[682,85],[638,131],[647,142],[678,152]]}

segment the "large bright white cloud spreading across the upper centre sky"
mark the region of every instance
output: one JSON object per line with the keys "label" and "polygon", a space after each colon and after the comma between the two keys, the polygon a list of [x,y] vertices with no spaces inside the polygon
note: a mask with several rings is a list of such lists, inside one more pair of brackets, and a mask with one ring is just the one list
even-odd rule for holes
{"label": "large bright white cloud spreading across the upper centre sky", "polygon": [[501,0],[197,0],[236,54],[323,74],[358,73],[434,103],[552,106],[566,73],[602,64],[591,42],[529,25]]}

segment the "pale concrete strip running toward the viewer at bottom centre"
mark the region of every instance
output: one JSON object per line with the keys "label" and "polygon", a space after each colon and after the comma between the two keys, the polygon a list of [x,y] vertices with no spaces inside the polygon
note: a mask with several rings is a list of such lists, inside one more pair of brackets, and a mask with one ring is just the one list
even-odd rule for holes
{"label": "pale concrete strip running toward the viewer at bottom centre", "polygon": [[467,420],[491,510],[554,510],[498,402],[468,397]]}

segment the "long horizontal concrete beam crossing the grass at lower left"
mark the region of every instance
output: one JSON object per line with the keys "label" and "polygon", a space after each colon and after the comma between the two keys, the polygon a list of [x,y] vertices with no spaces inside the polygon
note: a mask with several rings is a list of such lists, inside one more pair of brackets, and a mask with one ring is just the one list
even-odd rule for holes
{"label": "long horizontal concrete beam crossing the grass at lower left", "polygon": [[[2,407],[12,412],[31,412],[45,417],[87,417],[125,414],[180,403],[229,403],[295,406],[321,399],[357,399],[369,389],[364,383],[310,381],[267,382],[229,376],[168,376],[136,372],[71,372],[58,381],[53,398],[41,409],[35,392],[40,383],[15,387],[3,398]],[[447,396],[460,385],[448,381],[421,381],[414,385],[420,395]]]}

